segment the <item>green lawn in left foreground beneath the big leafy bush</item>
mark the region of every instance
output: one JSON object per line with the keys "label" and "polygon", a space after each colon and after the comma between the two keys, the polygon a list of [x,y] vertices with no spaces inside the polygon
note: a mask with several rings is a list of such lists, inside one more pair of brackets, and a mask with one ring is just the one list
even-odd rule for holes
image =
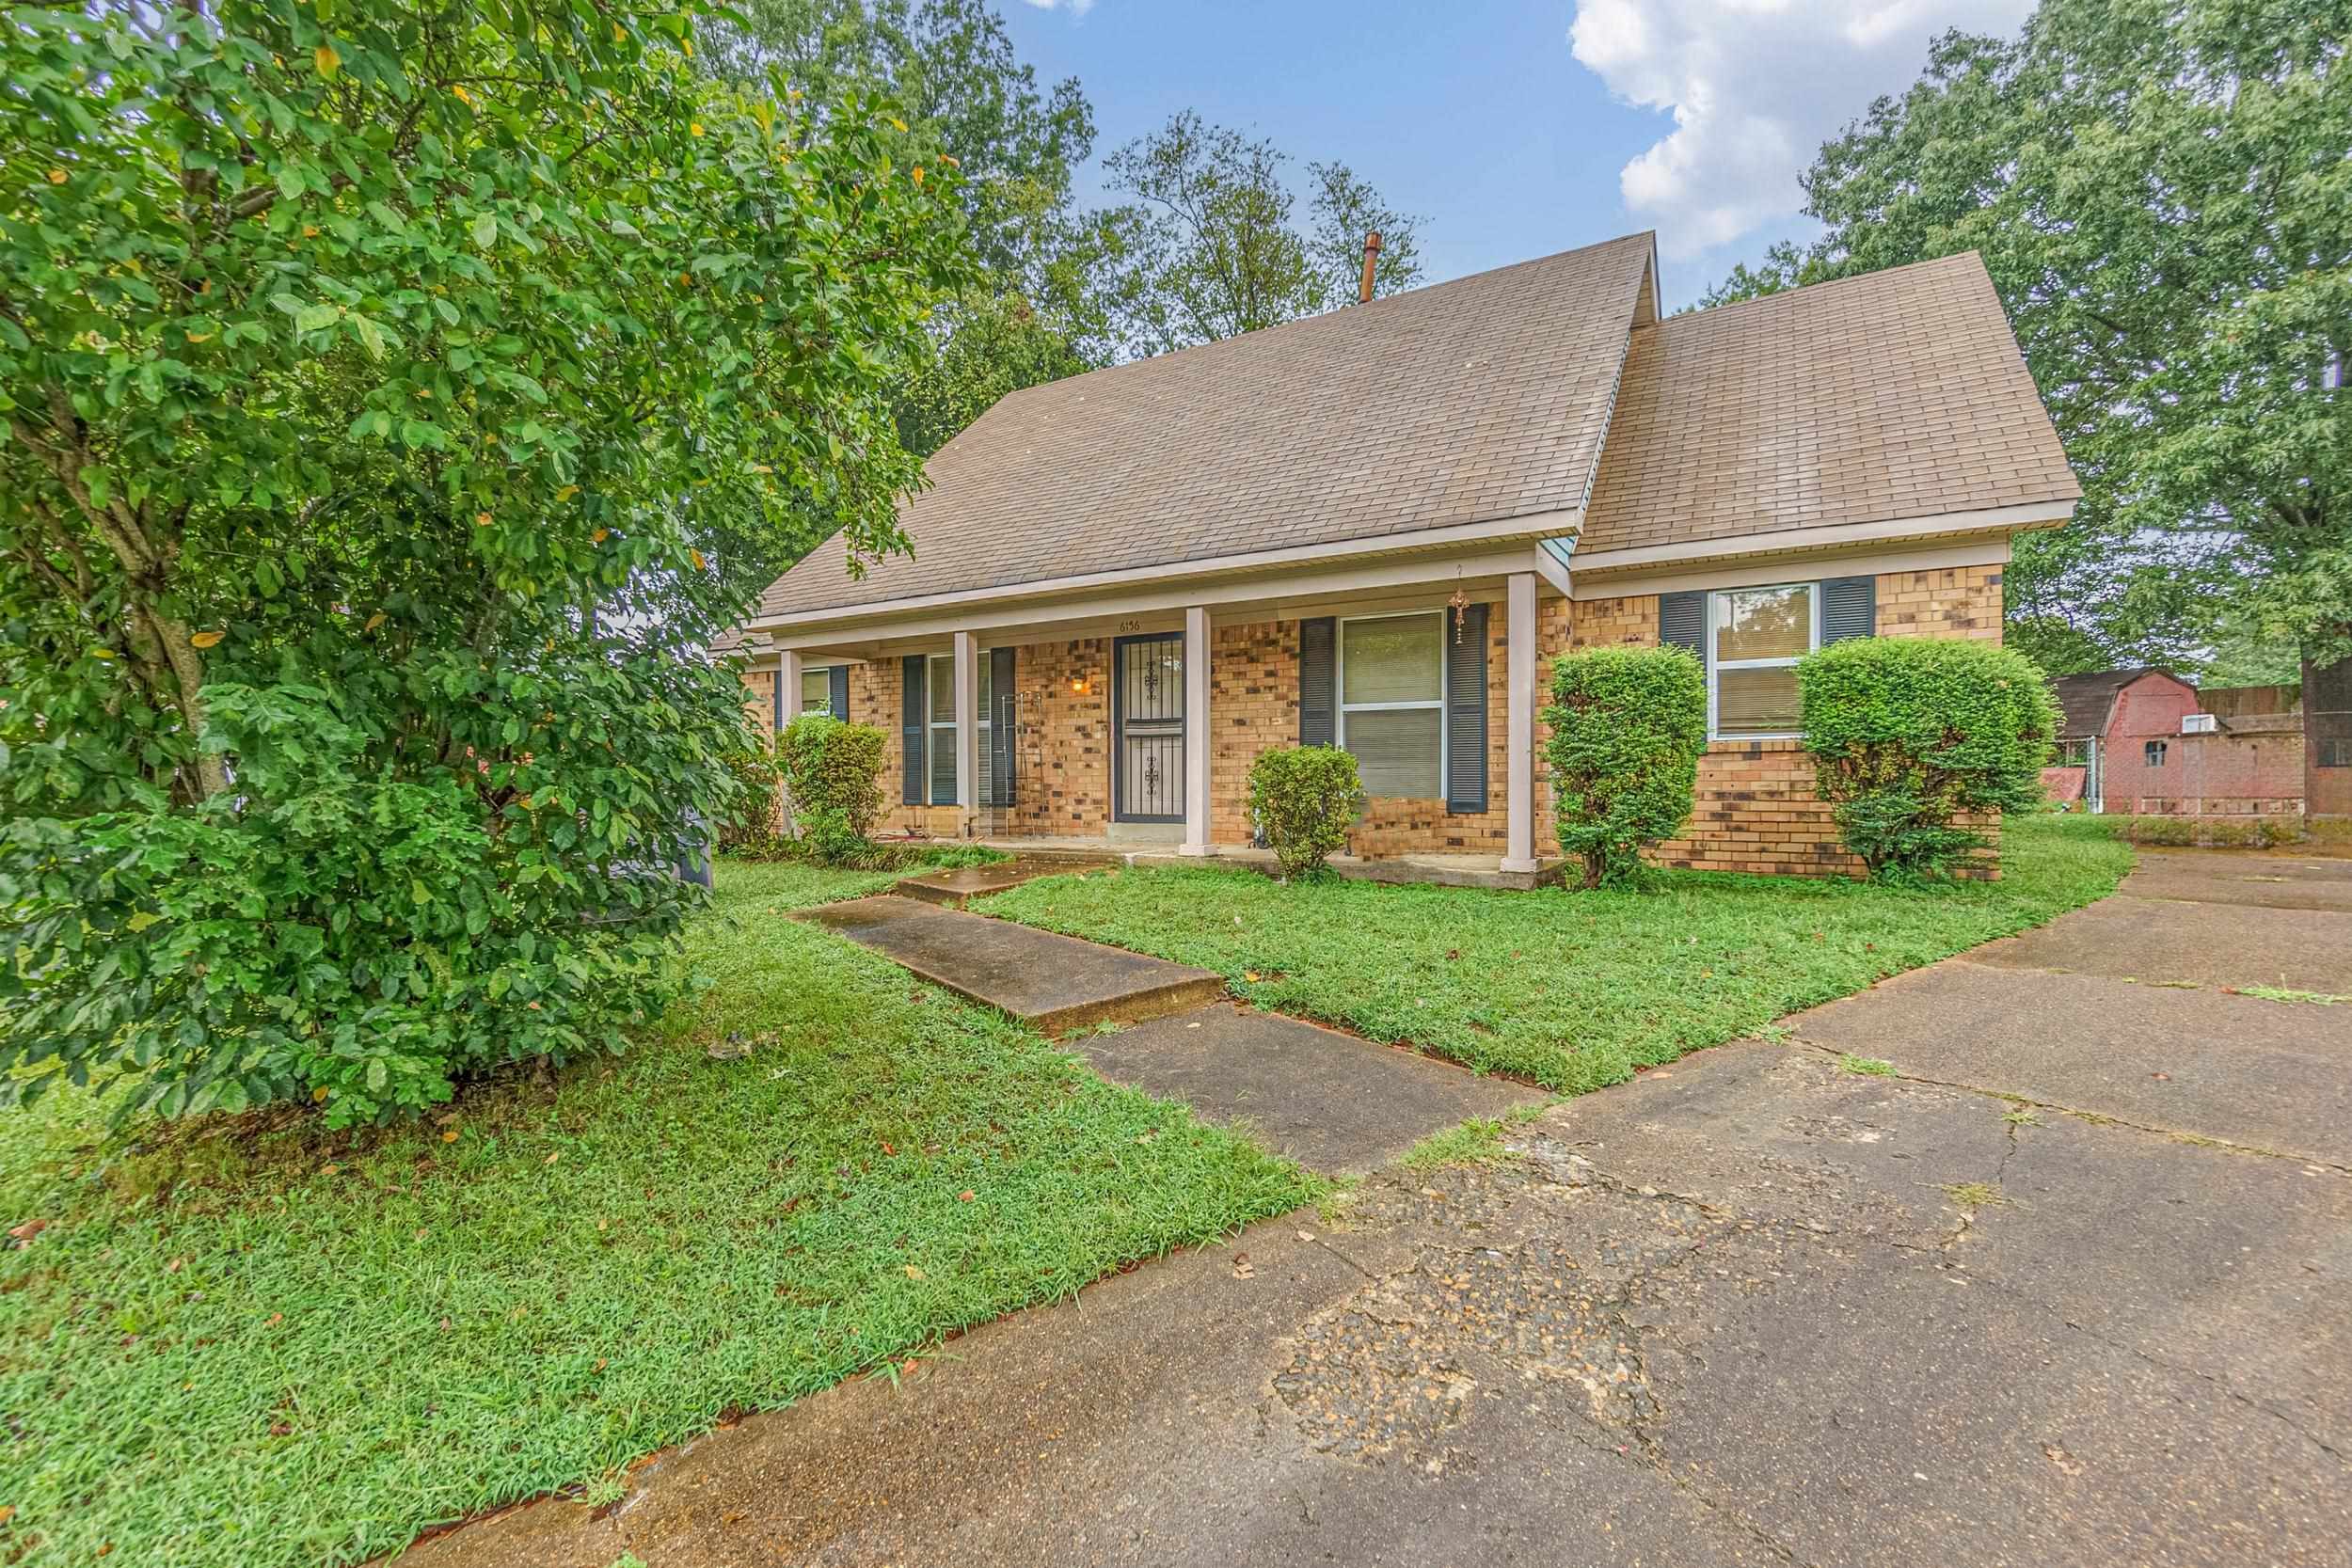
{"label": "green lawn in left foreground beneath the big leafy bush", "polygon": [[0,1227],[45,1222],[0,1251],[0,1561],[296,1568],[604,1497],[729,1408],[1319,1194],[781,917],[891,875],[720,877],[691,1018],[445,1124],[0,1121]]}

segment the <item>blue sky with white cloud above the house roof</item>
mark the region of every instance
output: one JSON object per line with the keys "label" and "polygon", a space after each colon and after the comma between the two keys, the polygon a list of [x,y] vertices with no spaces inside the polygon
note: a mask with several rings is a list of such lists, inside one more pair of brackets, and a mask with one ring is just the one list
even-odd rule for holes
{"label": "blue sky with white cloud above the house roof", "polygon": [[[1947,28],[2025,0],[997,0],[1096,155],[1181,108],[1338,158],[1423,219],[1430,282],[1656,228],[1668,308],[1806,235],[1797,172]],[[1098,195],[1098,169],[1082,195]]]}

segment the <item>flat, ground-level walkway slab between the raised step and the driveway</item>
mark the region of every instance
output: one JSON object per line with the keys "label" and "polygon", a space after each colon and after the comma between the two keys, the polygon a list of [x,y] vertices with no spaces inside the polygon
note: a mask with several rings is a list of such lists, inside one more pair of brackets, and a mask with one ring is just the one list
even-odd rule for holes
{"label": "flat, ground-level walkway slab between the raised step and the driveway", "polygon": [[1077,1048],[1105,1079],[1190,1100],[1310,1171],[1350,1175],[1385,1166],[1439,1128],[1543,1098],[1541,1088],[1232,1004],[1087,1034]]}

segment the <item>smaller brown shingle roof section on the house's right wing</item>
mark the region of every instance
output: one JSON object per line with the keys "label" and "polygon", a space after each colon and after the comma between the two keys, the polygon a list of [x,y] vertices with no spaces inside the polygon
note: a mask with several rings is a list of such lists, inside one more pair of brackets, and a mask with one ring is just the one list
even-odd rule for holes
{"label": "smaller brown shingle roof section on the house's right wing", "polygon": [[2079,494],[1969,252],[1637,329],[1576,552]]}

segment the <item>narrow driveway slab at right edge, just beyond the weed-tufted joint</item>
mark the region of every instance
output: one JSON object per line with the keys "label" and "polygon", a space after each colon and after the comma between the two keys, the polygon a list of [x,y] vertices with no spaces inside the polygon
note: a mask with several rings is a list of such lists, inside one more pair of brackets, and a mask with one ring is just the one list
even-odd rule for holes
{"label": "narrow driveway slab at right edge, just beyond the weed-tufted joint", "polygon": [[2279,910],[2126,893],[2063,914],[2039,931],[1985,943],[1969,961],[2117,980],[2352,994],[2352,910]]}

